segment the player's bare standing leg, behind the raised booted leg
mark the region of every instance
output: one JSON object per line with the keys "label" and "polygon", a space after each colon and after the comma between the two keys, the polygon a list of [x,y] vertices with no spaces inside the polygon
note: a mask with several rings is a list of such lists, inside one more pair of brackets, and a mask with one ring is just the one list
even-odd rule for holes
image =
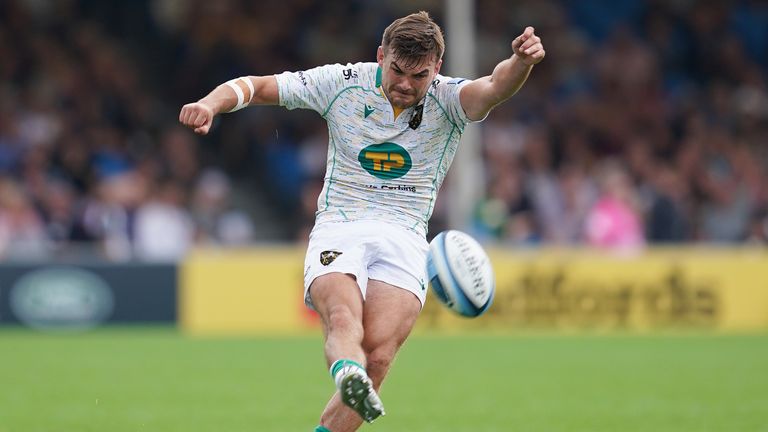
{"label": "player's bare standing leg, behind the raised booted leg", "polygon": [[[314,294],[312,298],[314,302]],[[362,320],[365,333],[361,347],[367,366],[364,372],[367,372],[366,375],[370,378],[372,391],[368,392],[367,403],[364,403],[361,410],[349,408],[350,404],[343,397],[343,388],[336,392],[321,417],[321,424],[325,429],[318,428],[319,431],[356,431],[362,420],[366,419],[366,413],[375,412],[376,408],[372,411],[370,409],[376,405],[376,401],[379,401],[376,392],[397,350],[410,334],[420,308],[419,300],[412,293],[383,282],[368,281]],[[359,404],[362,400],[356,399],[355,402]],[[381,412],[384,412],[383,406],[381,406]]]}

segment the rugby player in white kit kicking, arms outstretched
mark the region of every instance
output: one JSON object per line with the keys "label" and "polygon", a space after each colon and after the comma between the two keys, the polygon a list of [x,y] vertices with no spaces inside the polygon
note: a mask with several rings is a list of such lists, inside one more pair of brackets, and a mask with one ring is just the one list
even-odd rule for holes
{"label": "rugby player in white kit kicking, arms outstretched", "polygon": [[323,324],[336,392],[316,432],[349,432],[384,414],[378,390],[426,297],[427,222],[467,124],[514,95],[545,55],[527,27],[511,55],[475,80],[440,75],[445,49],[426,12],[384,31],[376,62],[246,76],[184,105],[213,118],[252,105],[311,109],[328,124],[325,182],[304,263],[304,299]]}

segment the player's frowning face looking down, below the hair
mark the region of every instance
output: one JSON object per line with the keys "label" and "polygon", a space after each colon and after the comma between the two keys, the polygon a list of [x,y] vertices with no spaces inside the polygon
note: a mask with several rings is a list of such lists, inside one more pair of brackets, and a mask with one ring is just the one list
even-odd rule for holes
{"label": "player's frowning face looking down, below the hair", "polygon": [[427,57],[418,65],[406,67],[405,61],[395,61],[392,53],[385,53],[382,47],[376,57],[382,71],[381,88],[389,102],[400,109],[410,108],[424,98],[443,64],[442,60]]}

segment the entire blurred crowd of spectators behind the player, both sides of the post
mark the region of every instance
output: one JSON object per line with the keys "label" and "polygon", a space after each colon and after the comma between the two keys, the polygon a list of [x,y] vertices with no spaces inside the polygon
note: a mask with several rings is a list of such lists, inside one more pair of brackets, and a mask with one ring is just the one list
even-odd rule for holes
{"label": "entire blurred crowd of spectators behind the player, both sides of the post", "polygon": [[[193,245],[302,240],[325,169],[322,119],[251,108],[198,137],[178,126],[181,105],[241,75],[372,61],[384,27],[418,9],[444,23],[438,0],[3,1],[0,259],[88,244],[173,260]],[[526,25],[547,58],[479,126],[474,235],[766,241],[768,3],[476,0],[476,11],[481,74]],[[438,203],[432,233],[446,223]]]}

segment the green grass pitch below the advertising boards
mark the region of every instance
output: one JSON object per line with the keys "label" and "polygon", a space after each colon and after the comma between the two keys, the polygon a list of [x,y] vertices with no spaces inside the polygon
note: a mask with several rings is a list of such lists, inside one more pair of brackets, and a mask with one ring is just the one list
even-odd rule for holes
{"label": "green grass pitch below the advertising boards", "polygon": [[[0,329],[0,432],[311,432],[319,336]],[[768,431],[768,335],[411,338],[370,431]]]}

